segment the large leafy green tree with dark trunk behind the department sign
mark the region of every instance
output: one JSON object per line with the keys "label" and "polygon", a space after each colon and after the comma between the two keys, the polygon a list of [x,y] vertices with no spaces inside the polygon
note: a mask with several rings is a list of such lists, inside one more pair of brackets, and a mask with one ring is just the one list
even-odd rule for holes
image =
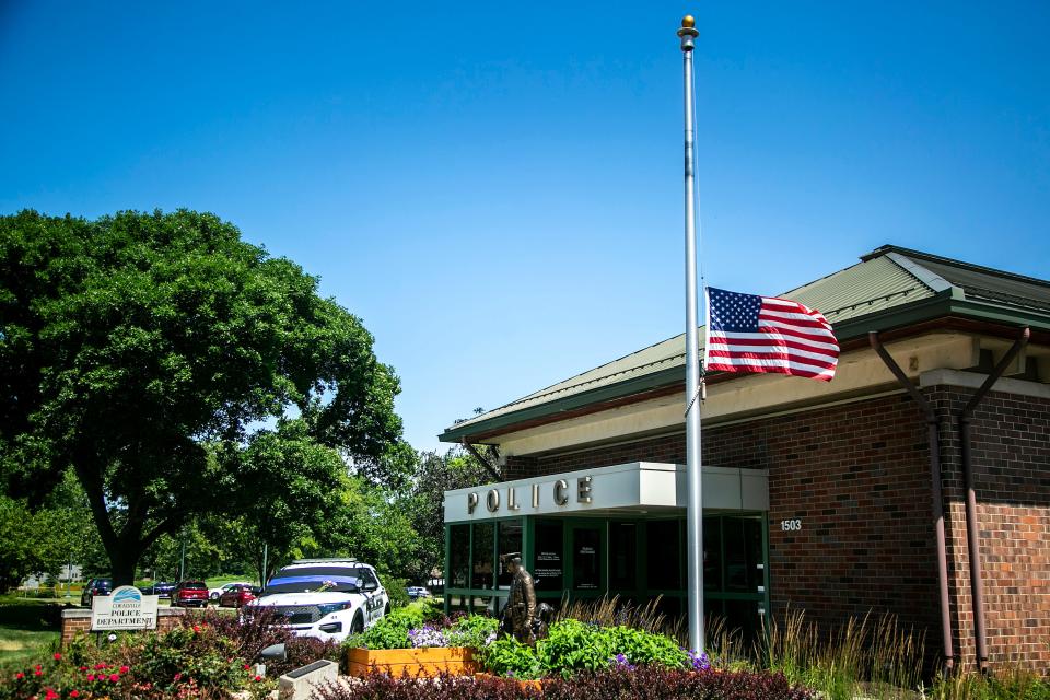
{"label": "large leafy green tree with dark trunk behind the department sign", "polygon": [[212,214],[0,218],[9,493],[39,502],[72,467],[117,583],[160,536],[260,488],[238,455],[275,418],[381,470],[398,388],[316,278]]}

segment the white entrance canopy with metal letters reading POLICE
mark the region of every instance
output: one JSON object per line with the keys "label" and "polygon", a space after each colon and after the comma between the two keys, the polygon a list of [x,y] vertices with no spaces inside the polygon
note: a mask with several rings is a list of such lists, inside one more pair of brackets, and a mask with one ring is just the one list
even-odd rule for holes
{"label": "white entrance canopy with metal letters reading POLICE", "polygon": [[[521,515],[669,515],[686,508],[685,465],[656,462],[581,469],[445,491],[445,522]],[[703,467],[703,509],[768,511],[765,469]]]}

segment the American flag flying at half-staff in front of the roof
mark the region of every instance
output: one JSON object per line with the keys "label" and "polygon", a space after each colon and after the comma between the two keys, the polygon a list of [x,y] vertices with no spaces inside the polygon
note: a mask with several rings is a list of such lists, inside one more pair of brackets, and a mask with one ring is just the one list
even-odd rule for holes
{"label": "American flag flying at half-staff in front of the roof", "polygon": [[708,288],[704,364],[723,372],[779,372],[830,382],[839,359],[818,311],[775,296]]}

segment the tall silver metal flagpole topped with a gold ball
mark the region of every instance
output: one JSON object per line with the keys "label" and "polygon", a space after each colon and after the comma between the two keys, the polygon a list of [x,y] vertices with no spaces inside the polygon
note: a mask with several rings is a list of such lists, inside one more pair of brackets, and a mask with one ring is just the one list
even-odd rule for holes
{"label": "tall silver metal flagpole topped with a gold ball", "polygon": [[689,649],[703,651],[703,498],[700,453],[700,343],[697,331],[697,222],[693,203],[692,49],[700,35],[692,16],[681,20],[678,37],[686,92],[686,502]]}

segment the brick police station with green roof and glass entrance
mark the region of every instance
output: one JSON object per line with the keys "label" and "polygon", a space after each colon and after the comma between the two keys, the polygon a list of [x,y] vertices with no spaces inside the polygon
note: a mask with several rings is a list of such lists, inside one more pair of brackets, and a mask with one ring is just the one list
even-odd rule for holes
{"label": "brick police station with green roof and glass entrance", "polygon": [[[781,294],[824,313],[830,383],[709,374],[708,615],[891,612],[956,665],[1050,667],[1050,282],[884,246]],[[702,336],[701,336],[702,337]],[[445,492],[445,600],[686,605],[685,337],[448,428],[500,480]]]}

